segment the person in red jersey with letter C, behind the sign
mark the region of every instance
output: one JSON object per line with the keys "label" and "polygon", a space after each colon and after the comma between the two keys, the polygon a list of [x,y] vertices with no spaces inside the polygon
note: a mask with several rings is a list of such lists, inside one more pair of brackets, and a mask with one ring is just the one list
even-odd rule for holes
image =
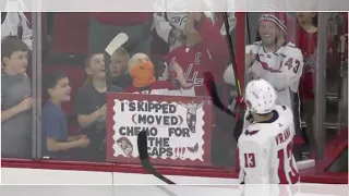
{"label": "person in red jersey with letter C, behind the sign", "polygon": [[[224,85],[222,74],[228,65],[228,45],[220,34],[220,26],[214,26],[203,13],[189,13],[182,45],[167,54],[167,64],[172,60],[183,69],[185,79],[195,86],[192,96],[210,96],[205,84],[214,82]],[[207,77],[212,73],[214,78]]]}

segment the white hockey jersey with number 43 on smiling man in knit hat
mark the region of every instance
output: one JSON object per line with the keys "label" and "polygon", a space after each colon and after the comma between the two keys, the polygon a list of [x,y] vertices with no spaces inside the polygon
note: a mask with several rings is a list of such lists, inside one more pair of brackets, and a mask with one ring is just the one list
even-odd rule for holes
{"label": "white hockey jersey with number 43 on smiling man in knit hat", "polygon": [[256,60],[249,68],[249,81],[263,78],[277,91],[277,103],[292,108],[291,93],[298,93],[303,71],[303,54],[291,42],[282,45],[274,52],[266,52],[262,41],[245,47],[245,53],[252,50]]}

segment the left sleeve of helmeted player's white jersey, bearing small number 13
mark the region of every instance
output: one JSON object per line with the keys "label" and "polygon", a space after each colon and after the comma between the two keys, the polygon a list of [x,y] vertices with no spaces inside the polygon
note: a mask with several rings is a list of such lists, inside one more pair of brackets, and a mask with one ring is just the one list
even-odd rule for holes
{"label": "left sleeve of helmeted player's white jersey, bearing small number 13", "polygon": [[241,170],[239,177],[243,177],[240,179],[240,181],[245,184],[268,184],[272,144],[269,142],[260,143],[251,137],[255,137],[255,135],[246,135],[244,133],[239,138],[239,160]]}

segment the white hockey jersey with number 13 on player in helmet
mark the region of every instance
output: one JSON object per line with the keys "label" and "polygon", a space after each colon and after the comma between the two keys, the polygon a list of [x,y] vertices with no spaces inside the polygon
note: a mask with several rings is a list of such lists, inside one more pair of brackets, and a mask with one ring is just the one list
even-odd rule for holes
{"label": "white hockey jersey with number 13 on player in helmet", "polygon": [[250,123],[239,137],[239,179],[245,184],[296,184],[292,111],[277,105],[269,122]]}

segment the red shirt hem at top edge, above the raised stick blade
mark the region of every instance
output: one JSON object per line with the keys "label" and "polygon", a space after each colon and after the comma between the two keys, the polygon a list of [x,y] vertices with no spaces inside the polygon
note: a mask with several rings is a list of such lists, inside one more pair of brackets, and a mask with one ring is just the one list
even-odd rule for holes
{"label": "red shirt hem at top edge, above the raised stick blade", "polygon": [[149,22],[153,17],[153,12],[93,12],[91,17],[103,24],[131,26]]}

